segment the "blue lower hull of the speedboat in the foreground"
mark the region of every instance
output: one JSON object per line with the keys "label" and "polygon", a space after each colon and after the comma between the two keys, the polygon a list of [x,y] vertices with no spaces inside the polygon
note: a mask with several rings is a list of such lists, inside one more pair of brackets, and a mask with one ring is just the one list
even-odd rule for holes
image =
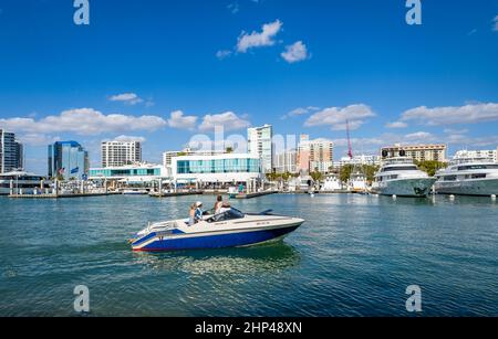
{"label": "blue lower hull of the speedboat in the foreground", "polygon": [[225,247],[242,247],[257,245],[272,240],[283,239],[295,231],[301,224],[261,230],[238,232],[204,232],[200,234],[177,234],[162,237],[151,234],[146,241],[132,244],[136,252],[172,252],[185,250],[210,250]]}

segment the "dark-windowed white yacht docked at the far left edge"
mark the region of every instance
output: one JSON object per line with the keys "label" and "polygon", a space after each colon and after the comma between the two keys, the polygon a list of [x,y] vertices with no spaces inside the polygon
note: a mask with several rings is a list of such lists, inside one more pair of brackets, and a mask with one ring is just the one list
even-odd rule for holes
{"label": "dark-windowed white yacht docked at the far left edge", "polygon": [[34,190],[50,188],[50,181],[44,177],[28,173],[24,171],[13,171],[0,174],[0,195],[10,193],[32,194]]}

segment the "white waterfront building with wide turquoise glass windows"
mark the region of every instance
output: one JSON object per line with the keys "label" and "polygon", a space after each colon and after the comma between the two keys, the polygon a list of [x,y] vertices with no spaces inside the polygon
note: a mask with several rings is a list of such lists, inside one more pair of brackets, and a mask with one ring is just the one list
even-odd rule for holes
{"label": "white waterfront building with wide turquoise glass windows", "polygon": [[185,156],[172,159],[172,176],[177,182],[237,184],[262,180],[261,159],[250,153]]}

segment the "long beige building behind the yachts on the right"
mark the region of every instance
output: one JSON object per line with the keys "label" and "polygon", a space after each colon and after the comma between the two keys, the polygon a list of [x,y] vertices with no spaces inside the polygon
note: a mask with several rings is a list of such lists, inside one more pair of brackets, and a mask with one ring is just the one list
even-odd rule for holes
{"label": "long beige building behind the yachts on the right", "polygon": [[398,157],[400,151],[404,150],[406,157],[415,161],[440,161],[446,162],[446,145],[430,144],[430,145],[394,145],[383,147],[381,149],[382,160],[386,158]]}

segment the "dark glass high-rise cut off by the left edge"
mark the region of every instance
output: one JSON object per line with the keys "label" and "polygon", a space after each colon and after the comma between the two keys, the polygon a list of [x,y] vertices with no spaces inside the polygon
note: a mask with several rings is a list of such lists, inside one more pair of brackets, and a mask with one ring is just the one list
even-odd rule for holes
{"label": "dark glass high-rise cut off by the left edge", "polygon": [[23,169],[23,147],[15,135],[0,129],[0,173]]}

